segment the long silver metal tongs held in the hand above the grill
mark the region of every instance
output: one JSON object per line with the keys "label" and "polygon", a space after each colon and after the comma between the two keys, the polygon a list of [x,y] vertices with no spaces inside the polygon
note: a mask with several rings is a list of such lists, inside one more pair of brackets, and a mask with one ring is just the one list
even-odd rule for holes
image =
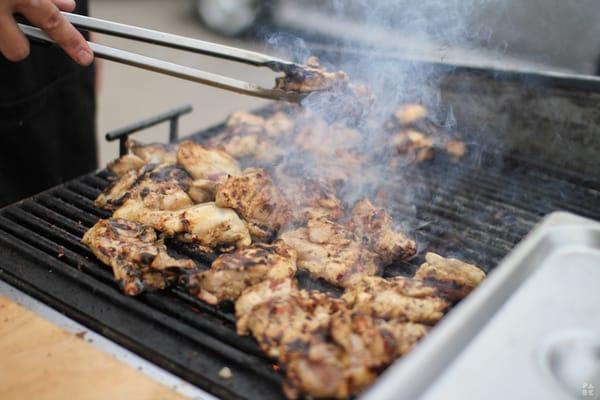
{"label": "long silver metal tongs held in the hand above the grill", "polygon": [[[151,43],[158,46],[171,47],[174,49],[191,51],[208,56],[226,60],[241,62],[257,67],[267,67],[275,72],[283,72],[286,75],[298,73],[304,69],[301,65],[285,61],[266,54],[224,46],[203,40],[192,39],[185,36],[154,31],[137,26],[120,24],[98,18],[90,18],[82,15],[62,13],[75,27],[90,32],[98,32],[126,39]],[[46,33],[36,27],[19,23],[19,28],[25,35],[44,42],[55,43]],[[154,72],[171,75],[177,78],[202,83],[217,88],[230,90],[250,96],[262,97],[273,100],[285,100],[300,102],[306,93],[284,91],[281,89],[267,89],[253,83],[240,81],[223,75],[174,64],[141,54],[125,50],[115,49],[98,43],[88,42],[90,48],[97,57],[111,61],[147,69]]]}

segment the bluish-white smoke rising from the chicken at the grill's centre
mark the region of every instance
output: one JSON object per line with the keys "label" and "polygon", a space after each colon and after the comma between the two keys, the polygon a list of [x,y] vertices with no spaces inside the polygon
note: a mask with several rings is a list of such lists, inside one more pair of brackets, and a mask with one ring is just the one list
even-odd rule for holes
{"label": "bluish-white smoke rising from the chicken at the grill's centre", "polygon": [[[288,147],[282,164],[294,166],[292,169],[296,170],[296,174],[301,169],[303,174],[334,180],[348,208],[362,198],[371,199],[392,213],[398,228],[405,232],[410,233],[427,224],[427,221],[417,218],[415,204],[437,198],[438,189],[417,184],[426,181],[422,169],[415,167],[413,158],[398,154],[393,144],[393,135],[397,132],[387,128],[386,124],[399,106],[420,104],[428,111],[428,126],[439,127],[448,135],[461,133],[462,126],[454,106],[443,99],[439,68],[421,62],[419,58],[427,55],[427,59],[444,61],[444,57],[456,49],[469,52],[482,47],[502,53],[504,46],[494,48],[493,32],[479,19],[482,8],[490,2],[328,2],[332,24],[336,19],[344,19],[367,27],[367,32],[387,32],[386,42],[381,43],[388,49],[385,51],[372,43],[357,41],[350,34],[341,33],[340,37],[324,46],[325,51],[289,32],[270,34],[266,42],[296,62],[305,62],[309,56],[315,55],[314,48],[320,49],[316,55],[324,67],[330,71],[347,72],[353,84],[366,84],[374,99],[371,105],[365,105],[365,98],[360,94],[344,93],[335,99],[320,93],[308,96],[302,104],[307,110],[305,116],[308,115],[305,125],[298,128],[296,124],[296,129],[306,132],[300,136],[302,140],[286,144]],[[337,51],[339,48],[342,51]],[[417,60],[412,57],[415,54]],[[405,60],[399,62],[401,59]],[[468,93],[470,88],[463,89]],[[321,120],[328,123],[324,124]],[[473,139],[475,136],[459,137],[469,148],[474,148],[471,145],[478,144]],[[443,150],[436,151],[443,153]],[[447,158],[447,155],[442,154],[441,157]],[[472,158],[476,160],[477,155]],[[457,166],[456,170],[459,169]],[[453,173],[453,170],[446,171],[448,176]],[[393,185],[390,184],[392,181]],[[427,241],[420,239],[419,247],[426,246]]]}

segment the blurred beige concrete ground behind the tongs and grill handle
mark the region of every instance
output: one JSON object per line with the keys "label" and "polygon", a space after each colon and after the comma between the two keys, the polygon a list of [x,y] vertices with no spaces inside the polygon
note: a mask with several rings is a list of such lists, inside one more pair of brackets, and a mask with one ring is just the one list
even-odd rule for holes
{"label": "blurred beige concrete ground behind the tongs and grill handle", "polygon": [[[261,50],[251,43],[235,43],[205,31],[193,13],[191,1],[92,0],[90,3],[91,15],[94,17]],[[237,63],[105,35],[97,35],[96,41],[251,82],[265,85],[273,83],[274,75],[269,70],[258,70]],[[252,109],[265,104],[260,99],[114,62],[102,60],[100,64],[97,123],[100,166],[118,155],[117,143],[107,143],[104,139],[104,134],[109,130],[189,103],[194,107],[194,111],[184,116],[180,123],[180,132],[189,134],[223,121],[233,111]],[[167,129],[167,125],[163,124],[138,137],[144,141],[165,141]]]}

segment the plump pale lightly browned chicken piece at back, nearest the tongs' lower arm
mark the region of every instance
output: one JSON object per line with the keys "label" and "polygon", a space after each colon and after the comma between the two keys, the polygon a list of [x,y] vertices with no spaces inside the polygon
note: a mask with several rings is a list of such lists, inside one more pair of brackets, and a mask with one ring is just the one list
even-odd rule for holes
{"label": "plump pale lightly browned chicken piece at back, nearest the tongs' lower arm", "polygon": [[179,145],[177,162],[194,179],[218,181],[227,175],[240,175],[238,162],[229,154],[218,149],[207,149],[200,144],[186,140]]}

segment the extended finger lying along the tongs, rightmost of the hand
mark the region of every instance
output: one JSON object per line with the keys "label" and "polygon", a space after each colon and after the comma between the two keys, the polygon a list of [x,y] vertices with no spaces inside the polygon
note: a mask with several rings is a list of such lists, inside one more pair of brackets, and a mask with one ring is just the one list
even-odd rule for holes
{"label": "extended finger lying along the tongs, rightmost of the hand", "polygon": [[[59,3],[58,6],[55,3]],[[16,9],[54,39],[73,60],[89,65],[94,60],[92,50],[81,33],[60,13],[59,7],[68,7],[67,3],[66,0],[21,0]]]}

